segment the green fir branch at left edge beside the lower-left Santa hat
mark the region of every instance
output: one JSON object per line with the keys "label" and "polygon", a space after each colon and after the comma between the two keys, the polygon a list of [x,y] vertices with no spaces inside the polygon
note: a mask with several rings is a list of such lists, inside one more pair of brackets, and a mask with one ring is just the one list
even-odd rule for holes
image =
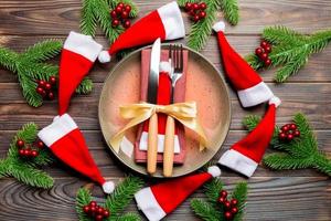
{"label": "green fir branch at left edge beside the lower-left Santa hat", "polygon": [[54,161],[52,154],[47,148],[39,150],[39,156],[31,159],[22,159],[18,154],[17,140],[23,139],[25,144],[32,144],[36,139],[38,126],[33,123],[25,124],[17,133],[7,158],[0,160],[0,178],[14,177],[19,181],[31,187],[52,188],[54,180],[45,172],[36,169],[38,167],[47,166]]}

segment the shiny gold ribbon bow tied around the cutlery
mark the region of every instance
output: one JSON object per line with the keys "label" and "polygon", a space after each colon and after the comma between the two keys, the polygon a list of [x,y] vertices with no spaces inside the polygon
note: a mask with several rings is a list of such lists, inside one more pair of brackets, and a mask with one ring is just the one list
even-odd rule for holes
{"label": "shiny gold ribbon bow tied around the cutlery", "polygon": [[131,119],[121,130],[110,139],[110,145],[116,152],[119,151],[120,143],[127,129],[149,119],[154,113],[163,113],[172,116],[185,127],[200,136],[200,150],[206,147],[206,137],[196,118],[195,102],[177,103],[171,105],[154,105],[149,103],[130,104],[121,106],[119,114],[125,119]]}

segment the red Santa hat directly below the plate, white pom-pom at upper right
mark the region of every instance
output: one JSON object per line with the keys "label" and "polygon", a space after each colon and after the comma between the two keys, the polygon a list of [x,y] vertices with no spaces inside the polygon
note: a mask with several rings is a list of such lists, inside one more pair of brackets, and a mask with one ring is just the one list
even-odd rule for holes
{"label": "red Santa hat directly below the plate, white pom-pom at upper right", "polygon": [[189,175],[143,188],[135,194],[135,199],[149,221],[158,221],[171,213],[206,181],[218,176],[221,176],[220,168],[212,166],[207,172]]}

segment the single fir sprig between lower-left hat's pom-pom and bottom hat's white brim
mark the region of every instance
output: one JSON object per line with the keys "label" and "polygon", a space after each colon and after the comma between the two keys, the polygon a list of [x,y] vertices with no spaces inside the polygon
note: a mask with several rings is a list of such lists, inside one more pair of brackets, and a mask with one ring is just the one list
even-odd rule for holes
{"label": "single fir sprig between lower-left hat's pom-pom and bottom hat's white brim", "polygon": [[118,214],[131,201],[134,194],[141,189],[142,180],[138,177],[128,176],[120,185],[117,186],[114,193],[107,197],[106,208],[111,214]]}

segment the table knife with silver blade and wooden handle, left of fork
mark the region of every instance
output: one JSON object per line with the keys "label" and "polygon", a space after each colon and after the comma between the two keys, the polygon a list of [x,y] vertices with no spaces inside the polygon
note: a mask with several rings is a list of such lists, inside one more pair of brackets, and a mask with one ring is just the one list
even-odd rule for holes
{"label": "table knife with silver blade and wooden handle, left of fork", "polygon": [[[157,39],[152,45],[150,54],[150,71],[148,78],[148,98],[150,104],[158,102],[159,87],[159,65],[161,56],[161,40]],[[157,171],[158,157],[158,114],[153,114],[149,119],[148,147],[147,147],[147,172],[152,175]]]}

